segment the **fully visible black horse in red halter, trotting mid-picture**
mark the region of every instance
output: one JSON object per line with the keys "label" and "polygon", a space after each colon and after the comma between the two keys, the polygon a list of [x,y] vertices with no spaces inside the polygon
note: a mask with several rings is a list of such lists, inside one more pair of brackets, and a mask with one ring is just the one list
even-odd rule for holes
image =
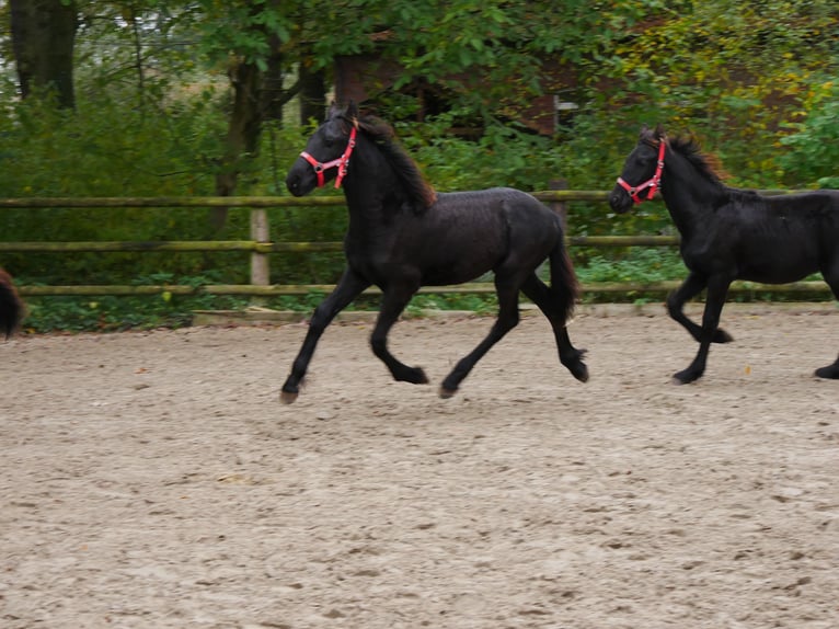
{"label": "fully visible black horse in red halter, trotting mid-picture", "polygon": [[[302,196],[333,179],[335,187],[343,183],[349,209],[347,264],[335,290],[314,310],[283,385],[284,402],[297,399],[326,325],[371,285],[382,290],[370,338],[373,354],[394,379],[426,384],[423,369],[404,365],[388,351],[388,332],[421,286],[461,284],[489,271],[495,273],[498,318],[443,381],[440,396],[453,394],[475,363],[518,323],[519,290],[551,322],[562,364],[578,380],[588,379],[581,359],[584,351],[571,344],[565,329],[578,285],[553,211],[512,188],[436,194],[394,140],[393,129],[375,117],[359,118],[353,104],[343,111],[331,108],[288,172],[286,185]],[[545,259],[551,287],[536,274]]]}

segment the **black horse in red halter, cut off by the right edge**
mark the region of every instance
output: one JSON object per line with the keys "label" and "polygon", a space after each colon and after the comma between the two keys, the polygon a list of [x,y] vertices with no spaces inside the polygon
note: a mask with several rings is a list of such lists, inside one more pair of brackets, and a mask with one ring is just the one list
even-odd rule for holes
{"label": "black horse in red halter, cut off by the right edge", "polygon": [[[690,271],[667,298],[667,310],[699,341],[697,357],[675,375],[677,382],[702,376],[711,343],[732,341],[717,325],[733,281],[785,284],[820,272],[839,299],[839,191],[765,196],[727,187],[694,140],[668,139],[660,127],[645,126],[609,204],[624,213],[633,202],[653,198],[659,186]],[[682,307],[705,288],[700,327]],[[839,378],[839,358],[815,375]]]}

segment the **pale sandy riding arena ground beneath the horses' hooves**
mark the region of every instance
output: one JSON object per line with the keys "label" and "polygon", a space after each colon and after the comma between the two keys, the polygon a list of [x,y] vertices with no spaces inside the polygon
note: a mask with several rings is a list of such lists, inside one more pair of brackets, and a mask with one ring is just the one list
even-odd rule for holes
{"label": "pale sandy riding arena ground beneath the horses' hooves", "polygon": [[705,377],[663,311],[0,344],[0,626],[839,627],[839,310],[723,314]]}

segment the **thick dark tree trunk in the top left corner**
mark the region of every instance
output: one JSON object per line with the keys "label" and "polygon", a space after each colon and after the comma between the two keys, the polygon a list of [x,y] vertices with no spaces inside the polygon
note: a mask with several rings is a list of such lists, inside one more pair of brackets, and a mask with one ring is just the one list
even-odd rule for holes
{"label": "thick dark tree trunk in the top left corner", "polygon": [[61,107],[74,107],[76,2],[11,0],[9,5],[22,96],[54,90]]}

